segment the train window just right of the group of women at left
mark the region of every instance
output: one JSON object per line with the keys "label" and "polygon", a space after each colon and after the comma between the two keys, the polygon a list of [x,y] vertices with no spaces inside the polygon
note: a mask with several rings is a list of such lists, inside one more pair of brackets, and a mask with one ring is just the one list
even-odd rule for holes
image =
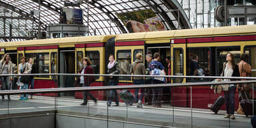
{"label": "train window just right of the group of women at left", "polygon": [[[38,53],[39,59],[39,71],[38,73],[49,73],[49,53]],[[49,76],[40,76],[40,77],[49,77]]]}

